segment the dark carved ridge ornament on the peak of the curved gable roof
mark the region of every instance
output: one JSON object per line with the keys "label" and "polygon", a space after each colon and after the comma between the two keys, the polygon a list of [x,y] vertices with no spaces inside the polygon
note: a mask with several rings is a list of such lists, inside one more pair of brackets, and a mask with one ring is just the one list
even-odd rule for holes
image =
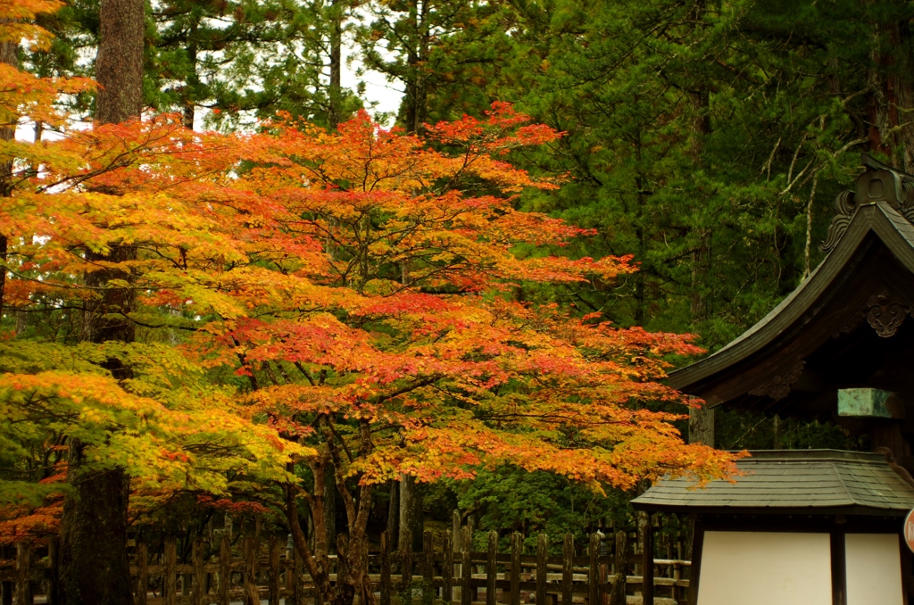
{"label": "dark carved ridge ornament on the peak of the curved gable roof", "polygon": [[837,214],[828,226],[824,243],[819,246],[826,254],[845,234],[858,207],[885,202],[914,223],[914,175],[885,165],[870,154],[863,154],[861,161],[866,171],[857,176],[856,190],[842,191],[834,198]]}

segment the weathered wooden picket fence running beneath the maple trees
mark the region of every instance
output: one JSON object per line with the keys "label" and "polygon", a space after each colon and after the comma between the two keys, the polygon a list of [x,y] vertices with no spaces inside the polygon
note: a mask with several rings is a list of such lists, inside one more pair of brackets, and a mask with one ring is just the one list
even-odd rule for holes
{"label": "weathered wooden picket fence running beneath the maple trees", "polygon": [[[626,599],[644,605],[672,605],[687,600],[690,562],[654,558],[654,527],[650,524],[614,536],[592,534],[582,548],[566,535],[561,555],[549,554],[545,534],[537,536],[536,547],[525,549],[524,536],[515,533],[507,552],[499,551],[495,532],[483,541],[476,536],[475,543],[473,537],[469,526],[453,532],[427,531],[421,552],[412,552],[409,548],[391,550],[387,536],[382,535],[379,552],[367,555],[377,605],[624,605]],[[345,537],[340,539],[344,545]],[[473,550],[480,542],[485,549]],[[670,547],[668,542],[667,556]],[[682,556],[681,543],[675,547],[675,556]],[[54,544],[19,544],[15,559],[0,559],[0,605],[55,601],[55,574],[48,564],[54,557]],[[253,578],[260,599],[270,605],[324,605],[303,562],[280,536],[260,540],[246,536],[234,545],[228,534],[212,540],[197,537],[186,558],[187,563],[177,562],[175,538],[166,538],[154,553],[142,542],[136,544],[131,567],[134,602],[245,602],[244,582]],[[331,560],[331,580],[335,581],[336,558]]]}

